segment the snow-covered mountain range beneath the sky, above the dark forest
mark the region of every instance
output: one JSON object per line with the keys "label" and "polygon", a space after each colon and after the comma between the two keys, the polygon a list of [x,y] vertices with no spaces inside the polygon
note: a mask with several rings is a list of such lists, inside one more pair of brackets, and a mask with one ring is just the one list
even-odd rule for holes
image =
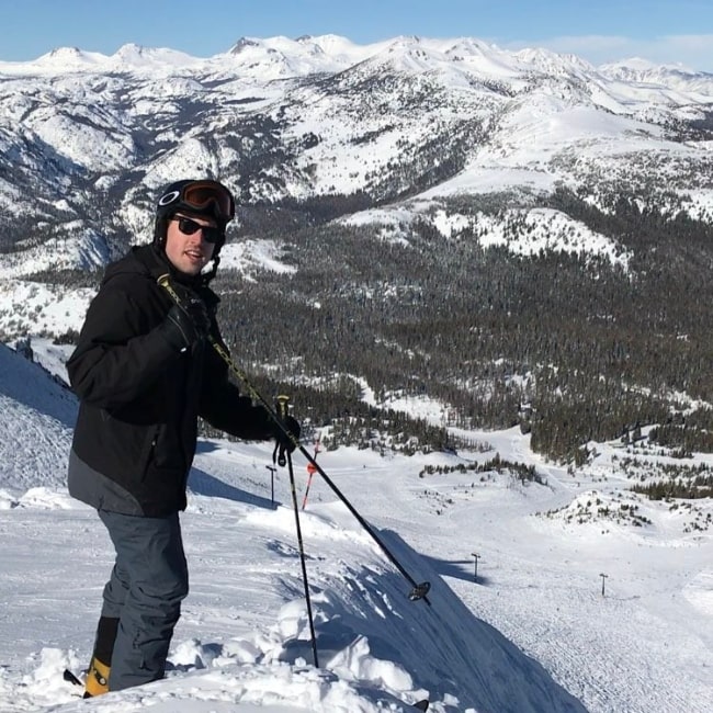
{"label": "snow-covered mountain range beneath the sky, above the dark forest", "polygon": [[184,176],[219,177],[242,208],[362,195],[427,215],[445,196],[566,185],[710,215],[712,114],[711,75],[468,37],[59,48],[0,63],[0,268],[101,265],[146,238],[157,186]]}

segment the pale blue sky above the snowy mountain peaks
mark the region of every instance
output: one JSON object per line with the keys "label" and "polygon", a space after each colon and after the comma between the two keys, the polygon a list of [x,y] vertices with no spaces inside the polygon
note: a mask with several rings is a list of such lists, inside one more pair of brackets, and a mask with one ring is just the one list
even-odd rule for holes
{"label": "pale blue sky above the snowy mountain peaks", "polygon": [[713,72],[711,0],[0,0],[0,27],[5,61],[66,46],[111,55],[127,43],[208,57],[242,36],[332,33],[359,44],[471,36]]}

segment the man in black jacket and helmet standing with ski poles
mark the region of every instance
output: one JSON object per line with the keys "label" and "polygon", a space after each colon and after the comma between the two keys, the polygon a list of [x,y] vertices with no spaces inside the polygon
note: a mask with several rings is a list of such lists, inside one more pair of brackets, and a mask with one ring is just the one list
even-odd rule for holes
{"label": "man in black jacket and helmet standing with ski poles", "polygon": [[[244,439],[292,439],[228,382],[211,340],[215,276],[230,192],[184,180],[158,200],[154,241],[109,265],[67,362],[80,406],[69,493],[97,508],[116,551],[84,697],[161,678],[189,591],[179,511],[195,453],[197,417]],[[205,270],[213,261],[212,269]],[[177,304],[158,278],[168,274]],[[298,423],[285,421],[294,439]]]}

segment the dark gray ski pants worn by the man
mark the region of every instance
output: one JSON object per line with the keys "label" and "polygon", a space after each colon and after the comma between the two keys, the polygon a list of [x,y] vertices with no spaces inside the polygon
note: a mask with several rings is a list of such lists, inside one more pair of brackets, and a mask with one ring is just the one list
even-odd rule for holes
{"label": "dark gray ski pants worn by the man", "polygon": [[100,510],[116,550],[102,616],[118,619],[109,690],[163,677],[189,573],[178,513],[145,518]]}

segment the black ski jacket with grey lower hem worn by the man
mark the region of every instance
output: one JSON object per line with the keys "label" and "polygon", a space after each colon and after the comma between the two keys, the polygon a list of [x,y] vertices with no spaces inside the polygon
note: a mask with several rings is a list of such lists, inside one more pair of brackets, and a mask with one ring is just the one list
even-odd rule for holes
{"label": "black ski jacket with grey lower hem worn by the man", "polygon": [[216,294],[181,279],[152,246],[133,248],[106,269],[67,362],[80,399],[69,493],[98,509],[147,517],[185,509],[199,416],[239,438],[274,435],[268,414],[240,396],[207,341],[177,353],[156,329],[173,304],[157,283],[167,272],[177,291],[204,301],[212,336],[225,347]]}

